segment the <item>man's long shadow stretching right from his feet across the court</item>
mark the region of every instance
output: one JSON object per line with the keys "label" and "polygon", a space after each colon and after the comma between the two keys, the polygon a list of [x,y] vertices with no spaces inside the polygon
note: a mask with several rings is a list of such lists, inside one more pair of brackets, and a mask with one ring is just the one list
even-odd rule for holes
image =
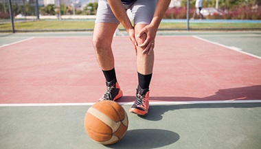
{"label": "man's long shadow stretching right from his feet across the court", "polygon": [[[125,99],[135,99],[134,96],[125,96]],[[245,100],[245,103],[220,103],[220,104],[179,104],[179,105],[151,105],[149,114],[144,119],[159,121],[163,118],[163,113],[185,108],[255,108],[261,107],[261,103],[247,103],[247,100],[261,100],[261,85],[251,87],[239,87],[234,89],[220,89],[214,95],[205,98],[192,97],[151,97],[150,100],[164,102],[182,101],[229,101]]]}

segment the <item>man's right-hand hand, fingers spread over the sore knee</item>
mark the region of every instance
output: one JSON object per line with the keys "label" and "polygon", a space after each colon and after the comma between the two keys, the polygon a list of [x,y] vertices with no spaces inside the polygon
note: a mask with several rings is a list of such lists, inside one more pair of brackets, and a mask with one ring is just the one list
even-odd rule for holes
{"label": "man's right-hand hand, fingers spread over the sore knee", "polygon": [[139,45],[138,47],[144,48],[142,51],[142,54],[145,54],[148,52],[148,55],[150,55],[150,51],[152,51],[155,47],[155,37],[156,37],[157,29],[150,25],[146,25],[143,29],[139,31],[137,34],[137,37],[142,36],[143,34],[146,34],[146,40],[144,43]]}

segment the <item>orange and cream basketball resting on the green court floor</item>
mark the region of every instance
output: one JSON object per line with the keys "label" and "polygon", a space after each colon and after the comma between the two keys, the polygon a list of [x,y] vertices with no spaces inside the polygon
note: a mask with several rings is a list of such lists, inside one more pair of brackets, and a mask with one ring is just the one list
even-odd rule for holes
{"label": "orange and cream basketball resting on the green court floor", "polygon": [[128,128],[128,115],[120,104],[110,100],[96,102],[84,117],[87,135],[99,144],[115,144]]}

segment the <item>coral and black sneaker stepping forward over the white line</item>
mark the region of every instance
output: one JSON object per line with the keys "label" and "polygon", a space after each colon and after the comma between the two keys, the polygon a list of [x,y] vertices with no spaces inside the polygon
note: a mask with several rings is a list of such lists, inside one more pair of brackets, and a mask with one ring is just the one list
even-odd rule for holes
{"label": "coral and black sneaker stepping forward over the white line", "polygon": [[137,92],[136,92],[136,100],[130,108],[131,113],[135,113],[137,115],[147,115],[148,114],[148,108],[149,108],[149,97],[150,91],[148,89],[141,89],[141,87],[138,86]]}

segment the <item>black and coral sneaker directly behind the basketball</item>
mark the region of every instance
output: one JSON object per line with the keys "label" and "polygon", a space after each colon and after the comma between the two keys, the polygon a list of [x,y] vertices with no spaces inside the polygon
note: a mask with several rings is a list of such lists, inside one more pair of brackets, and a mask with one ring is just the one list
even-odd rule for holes
{"label": "black and coral sneaker directly behind the basketball", "polygon": [[102,95],[101,100],[112,100],[115,101],[119,98],[122,98],[122,90],[120,89],[120,85],[115,81],[115,79],[111,80],[111,82],[106,82],[107,91]]}

